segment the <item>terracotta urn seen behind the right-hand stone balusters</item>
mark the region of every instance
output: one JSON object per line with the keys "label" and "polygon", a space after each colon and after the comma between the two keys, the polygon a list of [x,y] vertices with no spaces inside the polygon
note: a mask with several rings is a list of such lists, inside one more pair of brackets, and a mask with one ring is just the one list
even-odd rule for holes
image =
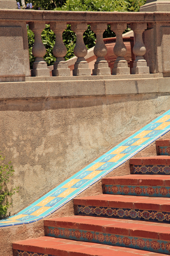
{"label": "terracotta urn seen behind the right-hand stone balusters", "polygon": [[[116,43],[116,37],[104,38],[103,40],[107,47],[107,54],[104,57],[108,62],[109,68],[111,68],[112,74],[112,68],[114,67],[114,62],[116,60],[116,55],[113,52],[113,48]],[[127,49],[124,58],[128,61],[128,67],[130,67],[131,70],[131,68],[133,68],[133,61],[135,60],[135,55],[133,54],[134,37],[123,37],[123,42]]]}

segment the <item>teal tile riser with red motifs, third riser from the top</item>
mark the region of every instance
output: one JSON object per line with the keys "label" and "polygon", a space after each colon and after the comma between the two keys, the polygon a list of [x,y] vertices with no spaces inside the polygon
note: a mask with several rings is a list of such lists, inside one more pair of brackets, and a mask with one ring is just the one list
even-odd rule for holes
{"label": "teal tile riser with red motifs, third riser from the top", "polygon": [[147,197],[170,197],[170,187],[104,184],[103,194]]}

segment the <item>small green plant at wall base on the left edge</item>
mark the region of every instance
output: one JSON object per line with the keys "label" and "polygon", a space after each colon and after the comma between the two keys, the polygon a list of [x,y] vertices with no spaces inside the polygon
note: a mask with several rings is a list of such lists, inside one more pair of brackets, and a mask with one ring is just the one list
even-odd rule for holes
{"label": "small green plant at wall base on the left edge", "polygon": [[4,164],[5,157],[0,155],[0,219],[6,217],[7,209],[10,207],[8,198],[18,192],[19,187],[11,189],[7,188],[7,183],[10,181],[10,177],[13,176],[14,170],[11,165],[11,162],[8,162],[7,165]]}

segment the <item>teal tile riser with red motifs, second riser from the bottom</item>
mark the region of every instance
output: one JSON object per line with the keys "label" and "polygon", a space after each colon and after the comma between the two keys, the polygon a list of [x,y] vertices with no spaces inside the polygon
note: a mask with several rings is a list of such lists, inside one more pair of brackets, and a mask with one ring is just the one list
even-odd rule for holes
{"label": "teal tile riser with red motifs, second riser from the bottom", "polygon": [[46,227],[46,232],[47,236],[50,237],[130,247],[145,251],[170,254],[169,241],[59,227]]}

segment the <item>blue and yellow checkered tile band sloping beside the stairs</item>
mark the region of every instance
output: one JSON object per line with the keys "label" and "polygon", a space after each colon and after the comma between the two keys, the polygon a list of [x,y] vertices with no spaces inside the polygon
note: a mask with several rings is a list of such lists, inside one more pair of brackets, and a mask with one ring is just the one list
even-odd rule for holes
{"label": "blue and yellow checkered tile band sloping beside the stairs", "polygon": [[1,220],[0,227],[28,224],[47,217],[168,131],[170,131],[170,110],[135,132],[26,209]]}

